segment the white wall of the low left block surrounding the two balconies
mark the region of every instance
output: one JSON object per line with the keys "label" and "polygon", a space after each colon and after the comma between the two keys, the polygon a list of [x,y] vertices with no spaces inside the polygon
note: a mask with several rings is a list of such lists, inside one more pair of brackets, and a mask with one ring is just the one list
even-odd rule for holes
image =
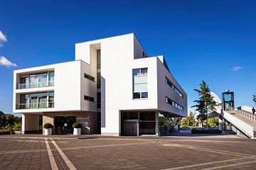
{"label": "white wall of the low left block surrounding the two balconies", "polygon": [[[16,89],[18,74],[32,74],[40,71],[53,70],[55,72],[54,86],[34,89]],[[90,74],[90,65],[81,60],[50,64],[42,67],[33,67],[14,71],[14,113],[42,113],[52,111],[96,111],[95,103],[84,100],[84,95],[89,94],[96,98],[96,87],[84,78],[84,72]],[[94,75],[95,76],[95,75]],[[82,88],[83,86],[83,88]],[[18,109],[18,95],[26,93],[39,93],[54,91],[54,108]],[[90,93],[88,93],[88,91]]]}

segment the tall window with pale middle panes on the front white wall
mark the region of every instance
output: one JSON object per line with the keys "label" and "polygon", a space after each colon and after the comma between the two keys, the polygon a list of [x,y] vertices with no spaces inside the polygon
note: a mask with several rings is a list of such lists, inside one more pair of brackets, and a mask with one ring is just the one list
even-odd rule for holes
{"label": "tall window with pale middle panes on the front white wall", "polygon": [[147,68],[132,69],[133,98],[148,98]]}

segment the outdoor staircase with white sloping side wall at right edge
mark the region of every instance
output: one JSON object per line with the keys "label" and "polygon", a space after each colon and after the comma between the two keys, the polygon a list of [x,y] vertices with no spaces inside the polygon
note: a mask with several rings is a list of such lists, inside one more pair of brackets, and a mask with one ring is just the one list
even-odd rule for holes
{"label": "outdoor staircase with white sloping side wall at right edge", "polygon": [[236,108],[232,111],[223,111],[220,98],[213,92],[211,94],[218,104],[218,106],[215,106],[215,112],[225,120],[228,120],[229,123],[238,128],[247,137],[256,139],[256,115]]}

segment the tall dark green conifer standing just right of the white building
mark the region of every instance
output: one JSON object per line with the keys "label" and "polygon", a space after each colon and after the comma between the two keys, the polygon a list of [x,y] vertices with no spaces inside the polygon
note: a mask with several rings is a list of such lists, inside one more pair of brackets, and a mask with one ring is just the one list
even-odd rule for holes
{"label": "tall dark green conifer standing just right of the white building", "polygon": [[198,118],[202,121],[206,120],[206,128],[208,129],[208,112],[215,110],[216,102],[213,100],[213,96],[210,95],[210,88],[206,81],[202,81],[200,89],[194,89],[194,91],[198,92],[199,99],[193,101],[197,104],[192,107],[195,107],[196,111],[199,112]]}

